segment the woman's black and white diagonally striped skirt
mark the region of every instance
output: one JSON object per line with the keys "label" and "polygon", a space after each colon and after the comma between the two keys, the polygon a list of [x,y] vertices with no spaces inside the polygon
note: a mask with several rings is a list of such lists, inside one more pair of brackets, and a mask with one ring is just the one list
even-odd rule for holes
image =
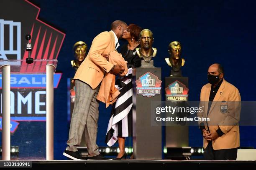
{"label": "woman's black and white diagonally striped skirt", "polygon": [[115,87],[119,90],[120,95],[112,106],[110,120],[105,143],[112,146],[119,137],[132,136],[133,132],[133,85],[132,85],[132,68],[128,69],[125,76],[116,80]]}

